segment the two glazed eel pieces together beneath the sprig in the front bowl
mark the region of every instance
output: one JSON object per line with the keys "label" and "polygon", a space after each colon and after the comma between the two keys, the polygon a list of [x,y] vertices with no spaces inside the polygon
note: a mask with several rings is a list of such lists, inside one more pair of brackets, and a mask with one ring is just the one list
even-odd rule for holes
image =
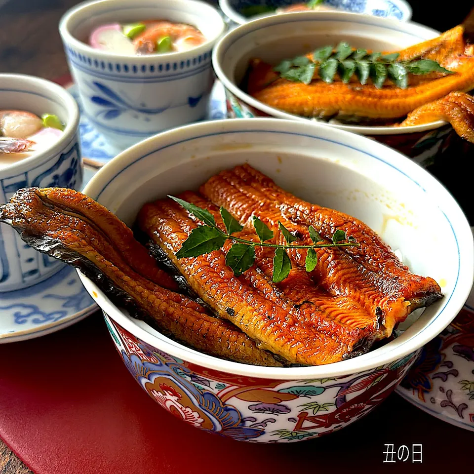
{"label": "two glazed eel pieces together beneath the sprig in the front bowl", "polygon": [[199,257],[176,258],[200,225],[179,204],[160,199],[140,211],[140,229],[199,297],[261,347],[292,363],[330,363],[366,352],[375,341],[391,336],[411,311],[442,297],[435,280],[411,274],[365,224],[286,193],[249,165],[213,176],[200,194],[179,197],[207,208],[222,229],[218,206],[225,207],[244,226],[236,236],[247,240],[257,239],[251,224],[257,216],[274,232],[271,243],[284,243],[278,221],[298,238],[297,245],[311,244],[310,225],[325,240],[340,229],[359,242],[359,247],[317,249],[318,265],[311,274],[305,270],[307,251],[288,250],[292,270],[275,284],[268,249],[257,246],[255,266],[237,277],[225,263],[230,242]]}

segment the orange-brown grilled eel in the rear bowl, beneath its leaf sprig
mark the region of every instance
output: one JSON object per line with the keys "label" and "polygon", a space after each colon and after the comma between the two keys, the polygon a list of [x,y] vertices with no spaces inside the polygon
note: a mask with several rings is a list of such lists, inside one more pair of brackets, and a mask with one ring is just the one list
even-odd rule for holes
{"label": "orange-brown grilled eel in the rear bowl, beneath its leaf sprig", "polygon": [[[406,89],[387,80],[381,89],[373,84],[361,85],[354,81],[344,84],[336,78],[331,84],[318,79],[310,84],[281,79],[270,64],[260,59],[250,62],[247,91],[257,100],[303,117],[331,117],[336,114],[363,118],[399,119],[413,114],[402,126],[426,123],[428,119],[443,118],[458,130],[466,114],[474,121],[472,108],[459,115],[459,104],[465,94],[451,96],[449,102],[433,104],[431,116],[418,114],[416,109],[450,92],[467,92],[474,88],[474,47],[463,39],[464,29],[458,26],[434,40],[428,40],[399,51],[399,60],[432,59],[453,74],[431,73],[426,76],[409,75]],[[312,54],[307,56],[313,60]],[[462,107],[462,105],[461,105]],[[466,136],[474,141],[474,131]]]}

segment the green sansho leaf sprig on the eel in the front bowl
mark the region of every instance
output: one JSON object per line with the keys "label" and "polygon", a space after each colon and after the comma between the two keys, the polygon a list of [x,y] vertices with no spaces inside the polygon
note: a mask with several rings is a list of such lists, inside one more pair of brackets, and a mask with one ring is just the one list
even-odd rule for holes
{"label": "green sansho leaf sprig on the eel in the front bowl", "polygon": [[341,230],[337,230],[334,233],[332,236],[332,242],[324,242],[313,226],[309,227],[309,234],[313,241],[313,245],[293,245],[293,242],[297,240],[297,237],[291,234],[290,231],[281,224],[281,222],[278,222],[278,229],[283,234],[286,245],[269,243],[267,240],[272,239],[274,233],[256,216],[252,217],[252,223],[260,242],[245,240],[232,235],[236,232],[240,232],[243,227],[224,207],[220,208],[220,213],[227,232],[222,231],[216,225],[214,216],[207,209],[197,207],[196,205],[183,199],[179,199],[178,197],[168,197],[176,201],[190,214],[203,222],[203,225],[192,230],[189,237],[183,242],[183,245],[176,253],[176,258],[198,257],[199,255],[204,255],[213,250],[222,248],[226,240],[230,239],[234,243],[226,254],[226,265],[232,269],[236,276],[242,275],[243,272],[253,266],[255,263],[256,246],[272,247],[275,249],[275,255],[273,258],[273,281],[275,283],[284,280],[290,273],[291,260],[286,253],[286,249],[288,248],[308,249],[306,256],[306,271],[312,272],[317,265],[316,248],[359,246],[354,237],[346,237],[346,233]]}

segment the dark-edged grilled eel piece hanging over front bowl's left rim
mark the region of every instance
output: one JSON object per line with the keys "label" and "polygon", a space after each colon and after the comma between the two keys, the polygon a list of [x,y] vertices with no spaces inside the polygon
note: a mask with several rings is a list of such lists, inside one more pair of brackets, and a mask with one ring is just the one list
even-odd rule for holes
{"label": "dark-edged grilled eel piece hanging over front bowl's left rim", "polygon": [[237,362],[283,365],[229,321],[172,291],[172,277],[93,199],[71,189],[22,189],[0,206],[0,222],[36,250],[77,267],[118,304],[175,340]]}

